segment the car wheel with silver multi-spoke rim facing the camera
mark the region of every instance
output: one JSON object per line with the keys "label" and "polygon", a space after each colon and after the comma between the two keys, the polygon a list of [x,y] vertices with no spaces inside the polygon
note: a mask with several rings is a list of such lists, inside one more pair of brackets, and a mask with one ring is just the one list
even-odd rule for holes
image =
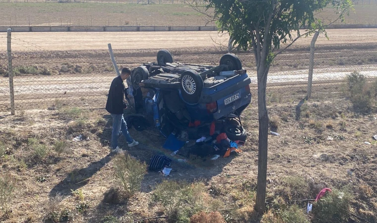
{"label": "car wheel with silver multi-spoke rim facing the camera", "polygon": [[188,104],[196,104],[203,89],[203,79],[195,70],[186,70],[181,75],[181,94]]}

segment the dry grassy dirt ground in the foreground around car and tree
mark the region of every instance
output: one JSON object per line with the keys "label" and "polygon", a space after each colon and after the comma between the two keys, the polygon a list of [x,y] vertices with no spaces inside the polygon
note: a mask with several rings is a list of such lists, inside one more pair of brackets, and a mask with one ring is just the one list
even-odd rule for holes
{"label": "dry grassy dirt ground in the foreground around car and tree", "polygon": [[[377,116],[374,113],[355,116],[350,101],[336,93],[341,87],[337,84],[314,85],[314,98],[302,107],[300,120],[296,120],[295,108],[306,95],[305,85],[268,89],[270,117],[277,123],[274,130],[281,136],[269,137],[267,201],[314,198],[321,188],[347,186],[354,193],[352,213],[375,222],[377,160],[376,141],[371,141],[371,137],[376,134]],[[255,88],[252,92],[256,94]],[[12,217],[4,222],[25,222],[27,219],[49,222],[52,213],[60,215],[61,211],[73,222],[90,223],[104,222],[105,216],[121,218],[119,222],[127,223],[162,216],[164,207],[153,203],[153,189],[166,179],[203,182],[205,193],[221,203],[218,210],[241,208],[220,211],[227,223],[244,222],[242,219],[249,210],[246,207],[252,206],[255,195],[256,112],[256,100],[253,100],[243,114],[243,123],[250,135],[240,155],[209,163],[173,162],[174,171],[169,178],[149,171],[142,181],[141,193],[127,203],[115,205],[103,201],[104,193],[117,185],[113,177],[114,162],[108,150],[111,117],[105,111],[29,110],[17,116],[3,113],[0,139],[8,149],[0,160],[0,169],[15,178],[18,188]],[[83,117],[86,117],[84,124],[78,127],[77,122]],[[100,121],[102,118],[105,122]],[[314,121],[318,124],[312,124]],[[154,154],[170,154],[161,148],[164,138],[155,130],[139,133],[131,129],[130,133],[141,143],[128,150],[136,159],[148,163]],[[72,142],[78,134],[90,140]],[[328,136],[335,139],[328,141]],[[46,158],[32,159],[33,147],[28,138],[35,138],[46,146],[49,151]],[[58,155],[53,150],[56,140],[68,143],[66,153]],[[365,141],[373,144],[366,145]],[[121,142],[124,145],[123,138]],[[299,189],[292,192],[297,186]],[[56,198],[57,193],[59,198]],[[298,204],[303,209],[306,207],[305,202]],[[271,216],[266,215],[262,222],[274,222],[268,218]]]}

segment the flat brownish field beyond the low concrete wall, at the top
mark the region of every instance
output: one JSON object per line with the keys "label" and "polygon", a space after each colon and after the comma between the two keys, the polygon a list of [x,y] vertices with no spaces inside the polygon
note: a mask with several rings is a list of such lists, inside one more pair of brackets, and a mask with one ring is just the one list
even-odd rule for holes
{"label": "flat brownish field beyond the low concrete wall, at the top", "polygon": [[[33,25],[155,25],[198,26],[204,17],[186,4],[122,4],[122,3],[0,3],[0,26]],[[97,0],[98,2],[98,0]],[[106,2],[106,1],[104,1]],[[121,1],[120,1],[121,2]],[[175,1],[177,2],[177,1]],[[179,1],[181,2],[181,1]],[[346,18],[348,24],[376,24],[376,4],[355,5],[355,13]],[[334,19],[333,9],[317,14],[327,21]],[[213,23],[211,23],[213,25]]]}

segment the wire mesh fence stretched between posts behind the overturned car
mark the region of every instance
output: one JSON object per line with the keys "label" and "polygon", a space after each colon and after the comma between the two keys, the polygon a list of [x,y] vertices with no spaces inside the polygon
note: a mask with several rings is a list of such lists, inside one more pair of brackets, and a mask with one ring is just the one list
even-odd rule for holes
{"label": "wire mesh fence stretched between posts behind the overturned car", "polygon": [[[6,43],[6,37],[0,37]],[[17,33],[12,33],[14,100],[16,111],[29,109],[60,109],[79,107],[102,109],[106,105],[108,90],[116,77],[107,51],[50,51],[45,50]],[[268,74],[268,84],[287,87],[308,80],[310,65],[309,46],[292,48],[275,58]],[[227,49],[213,51],[171,49],[174,58],[186,63],[217,65]],[[140,55],[125,54],[114,49],[120,68],[136,67],[153,61],[157,51]],[[234,51],[243,61],[256,85],[256,72],[251,53]],[[329,83],[342,80],[357,71],[367,78],[377,77],[377,44],[318,45],[314,55],[313,81]],[[303,88],[305,90],[305,88]],[[333,89],[339,91],[339,89]],[[315,95],[315,88],[313,90]],[[10,111],[8,59],[0,53],[0,111]]]}

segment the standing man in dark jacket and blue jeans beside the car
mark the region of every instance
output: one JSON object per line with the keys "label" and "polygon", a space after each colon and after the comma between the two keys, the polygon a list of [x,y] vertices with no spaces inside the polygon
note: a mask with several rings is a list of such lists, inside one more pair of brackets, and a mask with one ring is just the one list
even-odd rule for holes
{"label": "standing man in dark jacket and blue jeans beside the car", "polygon": [[125,85],[123,83],[131,75],[131,70],[126,67],[122,69],[120,76],[114,78],[111,82],[109,96],[106,103],[106,111],[108,111],[113,117],[113,133],[111,135],[111,148],[112,152],[120,153],[122,149],[118,146],[118,136],[122,130],[123,135],[126,137],[128,147],[139,145],[129,135],[125,118],[123,117],[123,110],[127,108],[124,101],[125,99]]}

